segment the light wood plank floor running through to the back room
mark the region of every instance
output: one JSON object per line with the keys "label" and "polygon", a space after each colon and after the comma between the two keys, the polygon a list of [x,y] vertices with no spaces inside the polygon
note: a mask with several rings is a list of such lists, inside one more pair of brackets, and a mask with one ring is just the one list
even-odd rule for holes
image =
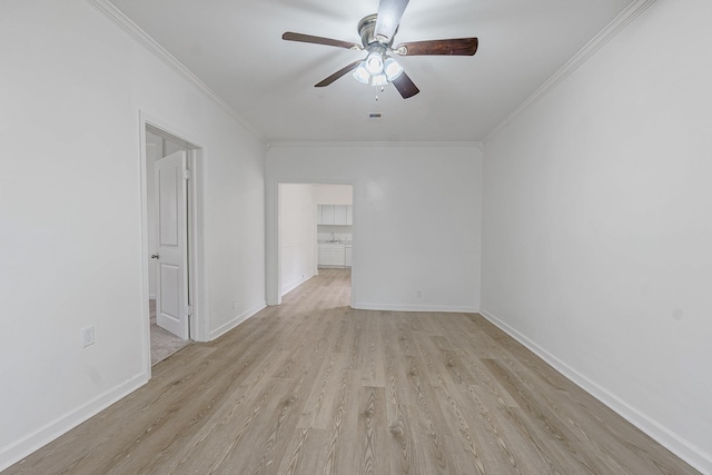
{"label": "light wood plank floor running through to the back room", "polygon": [[349,278],[174,354],[7,473],[696,473],[481,316],[354,310]]}

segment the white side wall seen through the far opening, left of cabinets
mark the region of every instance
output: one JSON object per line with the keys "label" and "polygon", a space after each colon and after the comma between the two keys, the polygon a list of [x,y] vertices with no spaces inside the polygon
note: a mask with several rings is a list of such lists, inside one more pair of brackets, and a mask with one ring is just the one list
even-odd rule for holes
{"label": "white side wall seen through the far opening, left of cabinets", "polygon": [[316,274],[316,204],[312,185],[279,185],[281,294]]}

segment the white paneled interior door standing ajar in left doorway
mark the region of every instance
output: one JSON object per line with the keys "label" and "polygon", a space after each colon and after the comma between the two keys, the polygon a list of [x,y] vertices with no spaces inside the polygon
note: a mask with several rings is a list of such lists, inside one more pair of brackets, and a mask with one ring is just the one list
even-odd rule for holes
{"label": "white paneled interior door standing ajar in left doorway", "polygon": [[156,161],[158,269],[156,323],[188,339],[188,196],[186,152]]}

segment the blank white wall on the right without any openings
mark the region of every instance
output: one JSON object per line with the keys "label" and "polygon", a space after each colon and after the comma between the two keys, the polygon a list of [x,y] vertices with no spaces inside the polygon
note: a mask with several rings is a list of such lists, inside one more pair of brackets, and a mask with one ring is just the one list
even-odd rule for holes
{"label": "blank white wall on the right without any openings", "polygon": [[482,267],[485,315],[706,473],[711,22],[654,3],[487,141]]}

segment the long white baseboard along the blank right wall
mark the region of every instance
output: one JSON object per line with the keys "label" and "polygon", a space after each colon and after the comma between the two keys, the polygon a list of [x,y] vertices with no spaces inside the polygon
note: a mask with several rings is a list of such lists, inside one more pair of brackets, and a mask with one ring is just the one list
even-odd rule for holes
{"label": "long white baseboard along the blank right wall", "polygon": [[643,431],[645,434],[657,441],[661,445],[666,447],[670,452],[692,465],[703,474],[712,474],[712,456],[694,444],[690,443],[685,438],[675,434],[673,431],[660,424],[657,420],[646,416],[635,407],[631,406],[616,395],[604,389],[595,382],[589,379],[586,376],[576,372],[564,362],[546,352],[544,348],[532,342],[525,335],[517,331],[515,328],[507,325],[505,321],[495,317],[493,314],[485,309],[482,309],[479,314],[487,320],[492,321],[500,329],[508,334],[512,338],[526,346],[536,356],[545,360],[550,366],[556,369],[562,375],[566,376],[577,386],[583,388],[586,393],[599,399],[601,403],[609,406],[612,410],[617,413],[621,417],[633,424],[635,427]]}

